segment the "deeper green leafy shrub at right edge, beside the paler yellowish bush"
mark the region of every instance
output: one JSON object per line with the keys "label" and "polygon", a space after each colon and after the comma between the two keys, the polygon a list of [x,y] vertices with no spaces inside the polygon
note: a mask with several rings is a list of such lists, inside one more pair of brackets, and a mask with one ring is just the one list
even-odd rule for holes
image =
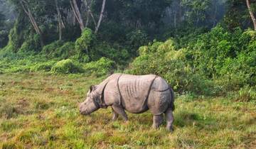
{"label": "deeper green leafy shrub at right edge, beside the paler yellowish bush", "polygon": [[[256,36],[254,32],[243,32],[240,28],[230,32],[220,25],[216,26],[210,32],[200,35],[196,40],[189,43],[188,49],[191,50],[193,65],[196,65],[198,69],[202,70],[210,78],[233,73],[229,72],[229,70],[233,69],[229,68],[229,65],[239,64],[241,68],[242,63],[245,62],[242,55],[246,55],[246,57],[253,56],[251,55],[252,49],[256,47],[256,44],[254,45]],[[248,67],[252,67],[252,65],[249,65],[250,62],[245,63]],[[252,64],[254,63],[252,62]],[[244,70],[247,69],[245,67]]]}

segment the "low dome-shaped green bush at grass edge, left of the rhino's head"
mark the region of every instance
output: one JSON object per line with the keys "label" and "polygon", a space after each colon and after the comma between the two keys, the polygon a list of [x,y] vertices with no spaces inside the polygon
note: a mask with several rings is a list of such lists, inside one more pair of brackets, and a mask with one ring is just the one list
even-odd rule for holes
{"label": "low dome-shaped green bush at grass edge, left of the rhino's head", "polygon": [[53,66],[50,71],[53,73],[63,74],[83,72],[82,67],[70,59],[60,60]]}

